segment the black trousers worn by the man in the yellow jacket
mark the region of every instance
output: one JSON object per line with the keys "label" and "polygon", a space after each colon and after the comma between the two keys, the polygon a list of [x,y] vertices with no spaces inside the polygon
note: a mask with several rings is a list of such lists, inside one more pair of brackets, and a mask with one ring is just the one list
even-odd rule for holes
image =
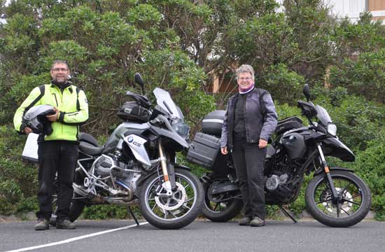
{"label": "black trousers worn by the man in the yellow jacket", "polygon": [[[43,141],[38,144],[38,218],[52,214],[52,194],[57,190],[57,219],[69,218],[73,196],[73,172],[78,160],[78,144],[71,141]],[[53,182],[57,173],[57,187]]]}

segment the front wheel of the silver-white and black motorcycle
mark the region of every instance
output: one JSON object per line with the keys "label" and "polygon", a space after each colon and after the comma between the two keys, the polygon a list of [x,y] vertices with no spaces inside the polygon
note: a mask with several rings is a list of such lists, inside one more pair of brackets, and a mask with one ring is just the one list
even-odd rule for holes
{"label": "front wheel of the silver-white and black motorcycle", "polygon": [[[190,172],[175,169],[177,190],[165,195],[163,177],[153,174],[141,187],[139,208],[148,223],[160,229],[179,229],[192,223],[202,210],[203,188]],[[162,195],[163,194],[163,195]]]}

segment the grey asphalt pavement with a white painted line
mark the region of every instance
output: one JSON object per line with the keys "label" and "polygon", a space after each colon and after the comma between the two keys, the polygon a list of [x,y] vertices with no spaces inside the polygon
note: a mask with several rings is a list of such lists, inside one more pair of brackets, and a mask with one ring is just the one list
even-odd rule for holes
{"label": "grey asphalt pavement with a white painted line", "polygon": [[[262,228],[195,221],[181,230],[158,230],[144,221],[76,223],[76,230],[39,232],[30,221],[0,223],[0,251],[385,251],[385,223],[376,221],[351,228],[316,221],[267,221]],[[33,246],[40,247],[26,250]]]}

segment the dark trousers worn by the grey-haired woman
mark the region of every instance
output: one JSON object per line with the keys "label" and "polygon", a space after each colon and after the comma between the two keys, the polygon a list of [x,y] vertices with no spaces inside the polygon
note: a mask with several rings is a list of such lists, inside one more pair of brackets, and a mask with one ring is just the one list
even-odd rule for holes
{"label": "dark trousers worn by the grey-haired woman", "polygon": [[232,158],[239,179],[245,216],[265,219],[265,186],[263,183],[263,164],[266,148],[258,144],[247,144],[246,139],[236,140]]}

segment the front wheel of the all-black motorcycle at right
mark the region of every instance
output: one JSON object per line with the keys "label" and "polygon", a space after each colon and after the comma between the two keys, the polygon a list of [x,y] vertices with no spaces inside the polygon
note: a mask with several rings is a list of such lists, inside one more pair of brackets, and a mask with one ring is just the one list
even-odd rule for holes
{"label": "front wheel of the all-black motorcycle at right", "polygon": [[330,171],[337,190],[337,199],[324,174],[314,177],[307,186],[305,202],[307,211],[317,221],[335,228],[356,225],[365,218],[370,210],[370,190],[365,182],[346,171]]}

